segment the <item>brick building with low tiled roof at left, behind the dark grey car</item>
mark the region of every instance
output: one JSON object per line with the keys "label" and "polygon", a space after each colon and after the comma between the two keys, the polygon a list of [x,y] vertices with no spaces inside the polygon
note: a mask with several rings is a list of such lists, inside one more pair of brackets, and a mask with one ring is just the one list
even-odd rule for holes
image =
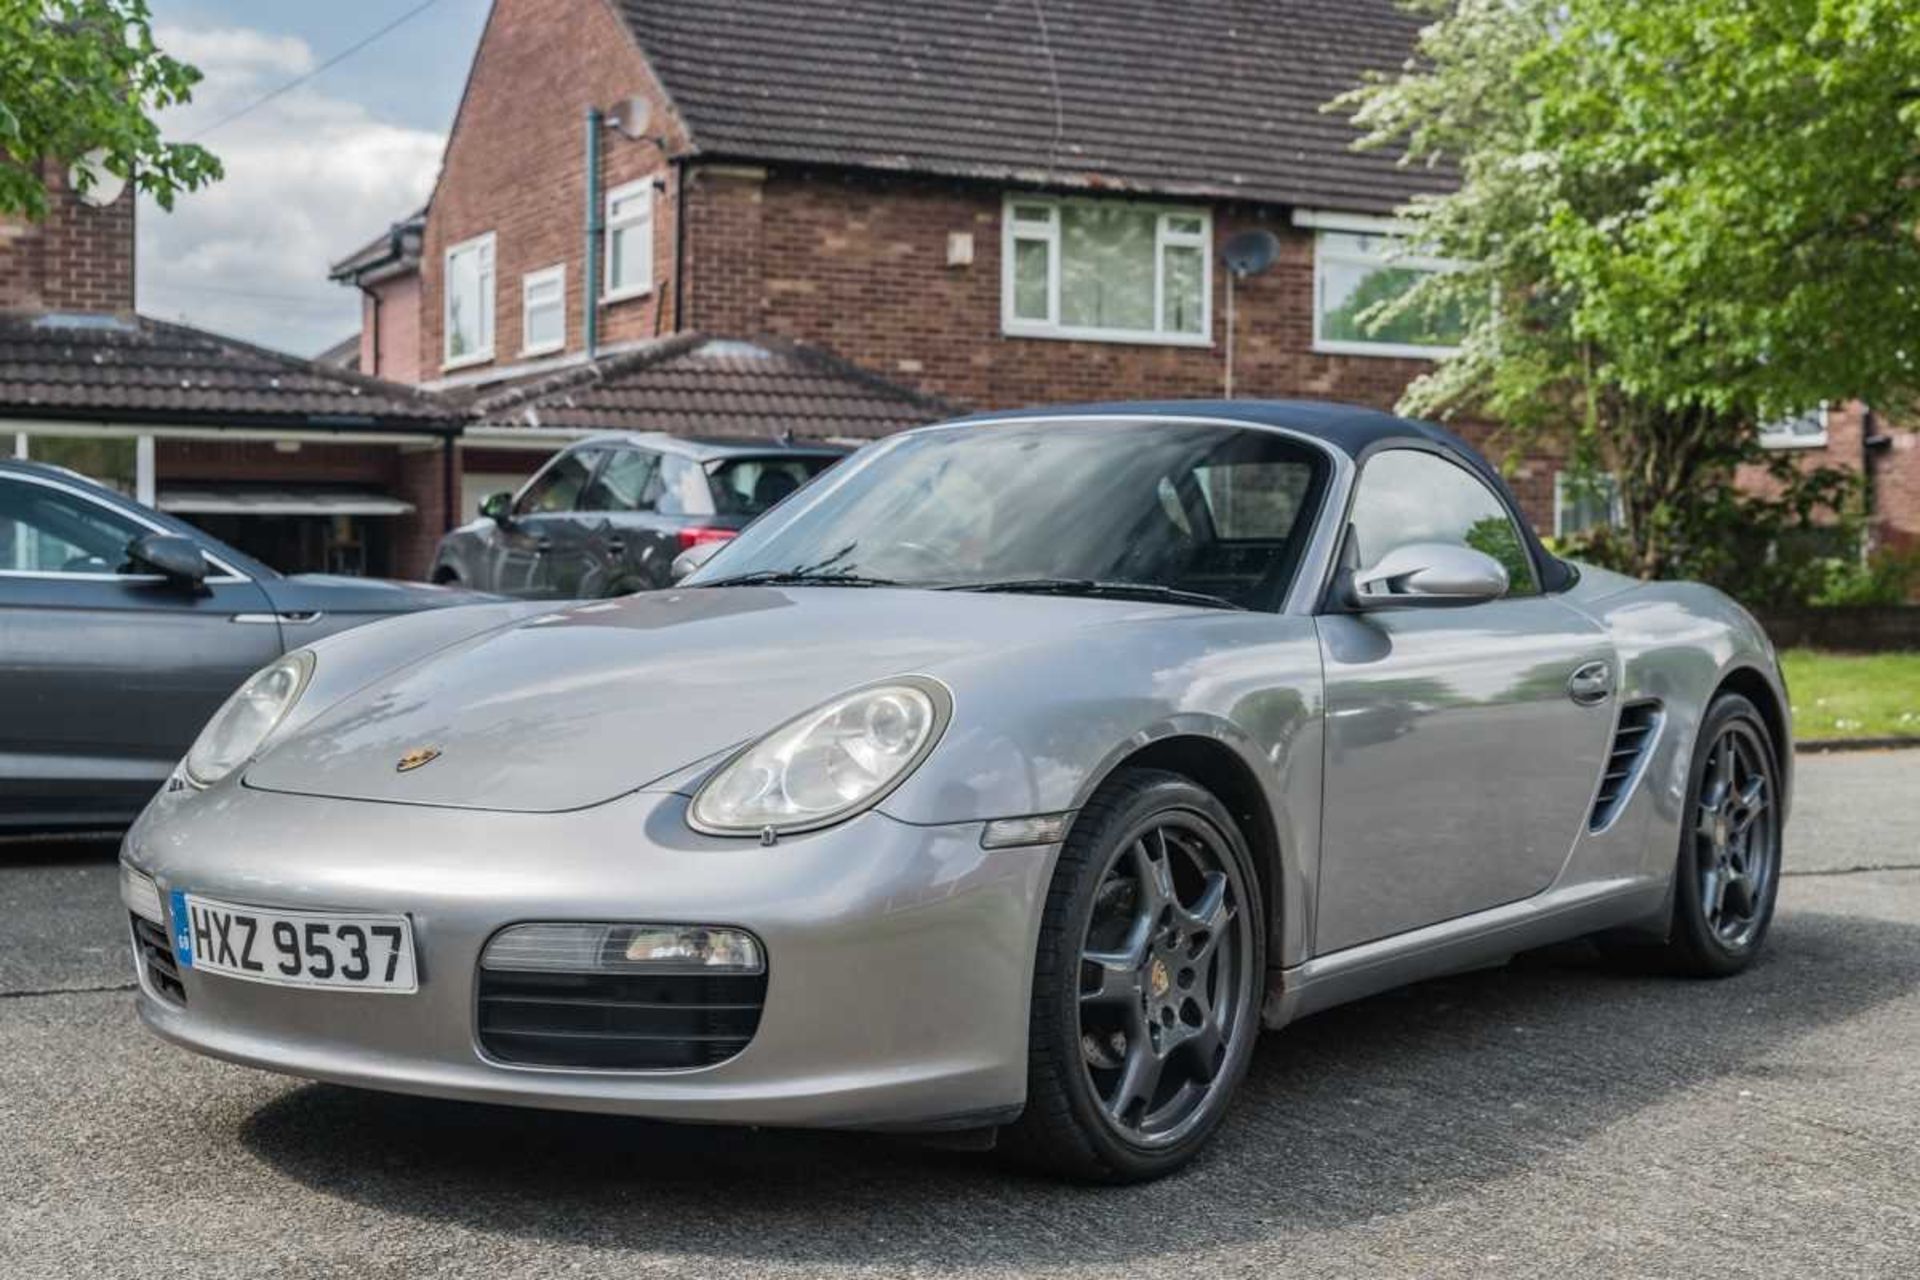
{"label": "brick building with low tiled roof at left, behind the dark grey car", "polygon": [[457,482],[457,407],[134,313],[134,196],[46,171],[0,219],[0,449],[73,466],[286,570],[407,572]]}

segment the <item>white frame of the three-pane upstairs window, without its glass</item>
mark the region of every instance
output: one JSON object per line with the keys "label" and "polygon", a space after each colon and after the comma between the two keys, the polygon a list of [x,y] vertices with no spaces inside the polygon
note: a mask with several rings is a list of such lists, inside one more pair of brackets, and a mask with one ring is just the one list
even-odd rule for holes
{"label": "white frame of the three-pane upstairs window, without its glass", "polygon": [[[1008,338],[1058,338],[1068,342],[1123,342],[1150,347],[1212,347],[1213,345],[1213,213],[1198,205],[1165,205],[1123,201],[1131,209],[1154,213],[1154,328],[1100,328],[1060,322],[1060,211],[1069,205],[1106,205],[1110,200],[1073,196],[1006,196],[1000,205],[1000,332]],[[1014,209],[1050,209],[1044,225],[1016,226]],[[1177,232],[1169,219],[1200,219],[1198,232]],[[1046,319],[1014,315],[1014,246],[1020,240],[1046,244]],[[1194,246],[1200,249],[1200,332],[1173,332],[1165,324],[1165,249]]]}

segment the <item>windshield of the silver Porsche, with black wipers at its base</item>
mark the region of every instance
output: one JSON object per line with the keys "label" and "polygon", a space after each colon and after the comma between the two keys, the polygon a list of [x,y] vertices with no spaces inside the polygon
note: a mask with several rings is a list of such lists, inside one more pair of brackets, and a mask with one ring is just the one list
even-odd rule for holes
{"label": "windshield of the silver Porsche, with black wipers at its base", "polygon": [[1271,608],[1321,474],[1309,445],[1208,422],[920,432],[843,462],[687,585],[803,580]]}

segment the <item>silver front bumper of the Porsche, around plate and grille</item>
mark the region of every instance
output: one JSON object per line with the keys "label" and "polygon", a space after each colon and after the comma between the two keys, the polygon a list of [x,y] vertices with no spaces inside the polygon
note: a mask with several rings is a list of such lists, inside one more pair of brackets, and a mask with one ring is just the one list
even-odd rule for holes
{"label": "silver front bumper of the Porsche, around plate and grille", "polygon": [[[983,850],[979,823],[877,812],[760,846],[693,833],[685,804],[636,793],[507,814],[238,783],[163,794],[123,846],[163,896],[407,913],[420,988],[303,990],[186,969],[179,1002],[142,967],[140,1017],[213,1057],[470,1102],[795,1126],[954,1126],[1020,1109],[1054,846]],[[749,929],[768,967],[753,1040],[682,1071],[492,1061],[476,1038],[480,950],[505,925],[568,919]]]}

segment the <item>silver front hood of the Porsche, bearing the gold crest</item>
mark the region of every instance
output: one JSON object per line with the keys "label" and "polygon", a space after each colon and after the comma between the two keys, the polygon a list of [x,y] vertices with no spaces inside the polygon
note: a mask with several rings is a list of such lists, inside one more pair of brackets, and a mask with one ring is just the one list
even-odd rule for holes
{"label": "silver front hood of the Porsche, bearing the gold crest", "polygon": [[[854,587],[653,591],[486,631],[269,747],[265,791],[520,812],[660,783],[845,689],[1192,610]],[[324,660],[324,656],[323,656]],[[438,752],[399,770],[413,752]]]}

